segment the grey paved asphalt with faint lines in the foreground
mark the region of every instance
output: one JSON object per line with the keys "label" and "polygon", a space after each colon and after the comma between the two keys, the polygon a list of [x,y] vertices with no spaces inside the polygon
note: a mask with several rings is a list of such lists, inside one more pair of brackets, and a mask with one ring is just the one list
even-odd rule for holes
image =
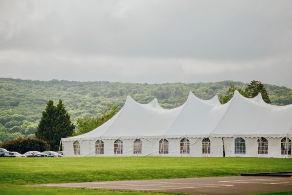
{"label": "grey paved asphalt with faint lines in the foreground", "polygon": [[160,191],[195,195],[246,195],[292,191],[291,177],[228,176],[135,181],[43,184],[45,187],[93,188],[110,190]]}

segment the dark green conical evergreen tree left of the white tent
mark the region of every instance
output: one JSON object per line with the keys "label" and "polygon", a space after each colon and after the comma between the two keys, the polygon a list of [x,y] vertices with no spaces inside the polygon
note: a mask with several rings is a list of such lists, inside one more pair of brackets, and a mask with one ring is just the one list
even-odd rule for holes
{"label": "dark green conical evergreen tree left of the white tent", "polygon": [[51,149],[57,151],[61,138],[72,136],[74,128],[62,100],[59,100],[57,106],[53,100],[49,100],[40,118],[36,137],[47,141]]}

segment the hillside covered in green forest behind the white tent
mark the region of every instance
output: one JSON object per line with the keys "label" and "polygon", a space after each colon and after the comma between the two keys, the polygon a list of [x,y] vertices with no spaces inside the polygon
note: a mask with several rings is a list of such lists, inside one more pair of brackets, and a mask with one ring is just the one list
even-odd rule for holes
{"label": "hillside covered in green forest behind the white tent", "polygon": [[[37,123],[49,99],[63,100],[73,122],[96,116],[110,104],[123,106],[127,96],[140,103],[158,98],[164,108],[180,106],[191,91],[209,99],[226,95],[230,84],[242,82],[141,84],[108,81],[79,82],[65,80],[32,81],[0,78],[0,144],[16,137],[34,136]],[[265,84],[275,105],[292,104],[292,90]]]}

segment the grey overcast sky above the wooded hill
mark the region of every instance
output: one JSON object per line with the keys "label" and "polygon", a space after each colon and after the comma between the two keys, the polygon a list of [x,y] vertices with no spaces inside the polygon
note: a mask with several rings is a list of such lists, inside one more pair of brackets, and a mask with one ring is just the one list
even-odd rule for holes
{"label": "grey overcast sky above the wooded hill", "polygon": [[292,0],[0,0],[0,77],[292,88]]}

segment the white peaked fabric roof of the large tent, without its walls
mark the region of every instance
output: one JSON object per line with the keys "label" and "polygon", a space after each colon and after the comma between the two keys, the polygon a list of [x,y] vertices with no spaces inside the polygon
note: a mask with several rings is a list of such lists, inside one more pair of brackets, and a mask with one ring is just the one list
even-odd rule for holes
{"label": "white peaked fabric roof of the large tent, without its walls", "polygon": [[164,109],[156,98],[140,104],[128,96],[106,123],[62,141],[163,137],[292,137],[292,105],[267,104],[260,94],[244,98],[237,91],[221,105],[217,96],[202,100],[190,92],[182,106]]}

